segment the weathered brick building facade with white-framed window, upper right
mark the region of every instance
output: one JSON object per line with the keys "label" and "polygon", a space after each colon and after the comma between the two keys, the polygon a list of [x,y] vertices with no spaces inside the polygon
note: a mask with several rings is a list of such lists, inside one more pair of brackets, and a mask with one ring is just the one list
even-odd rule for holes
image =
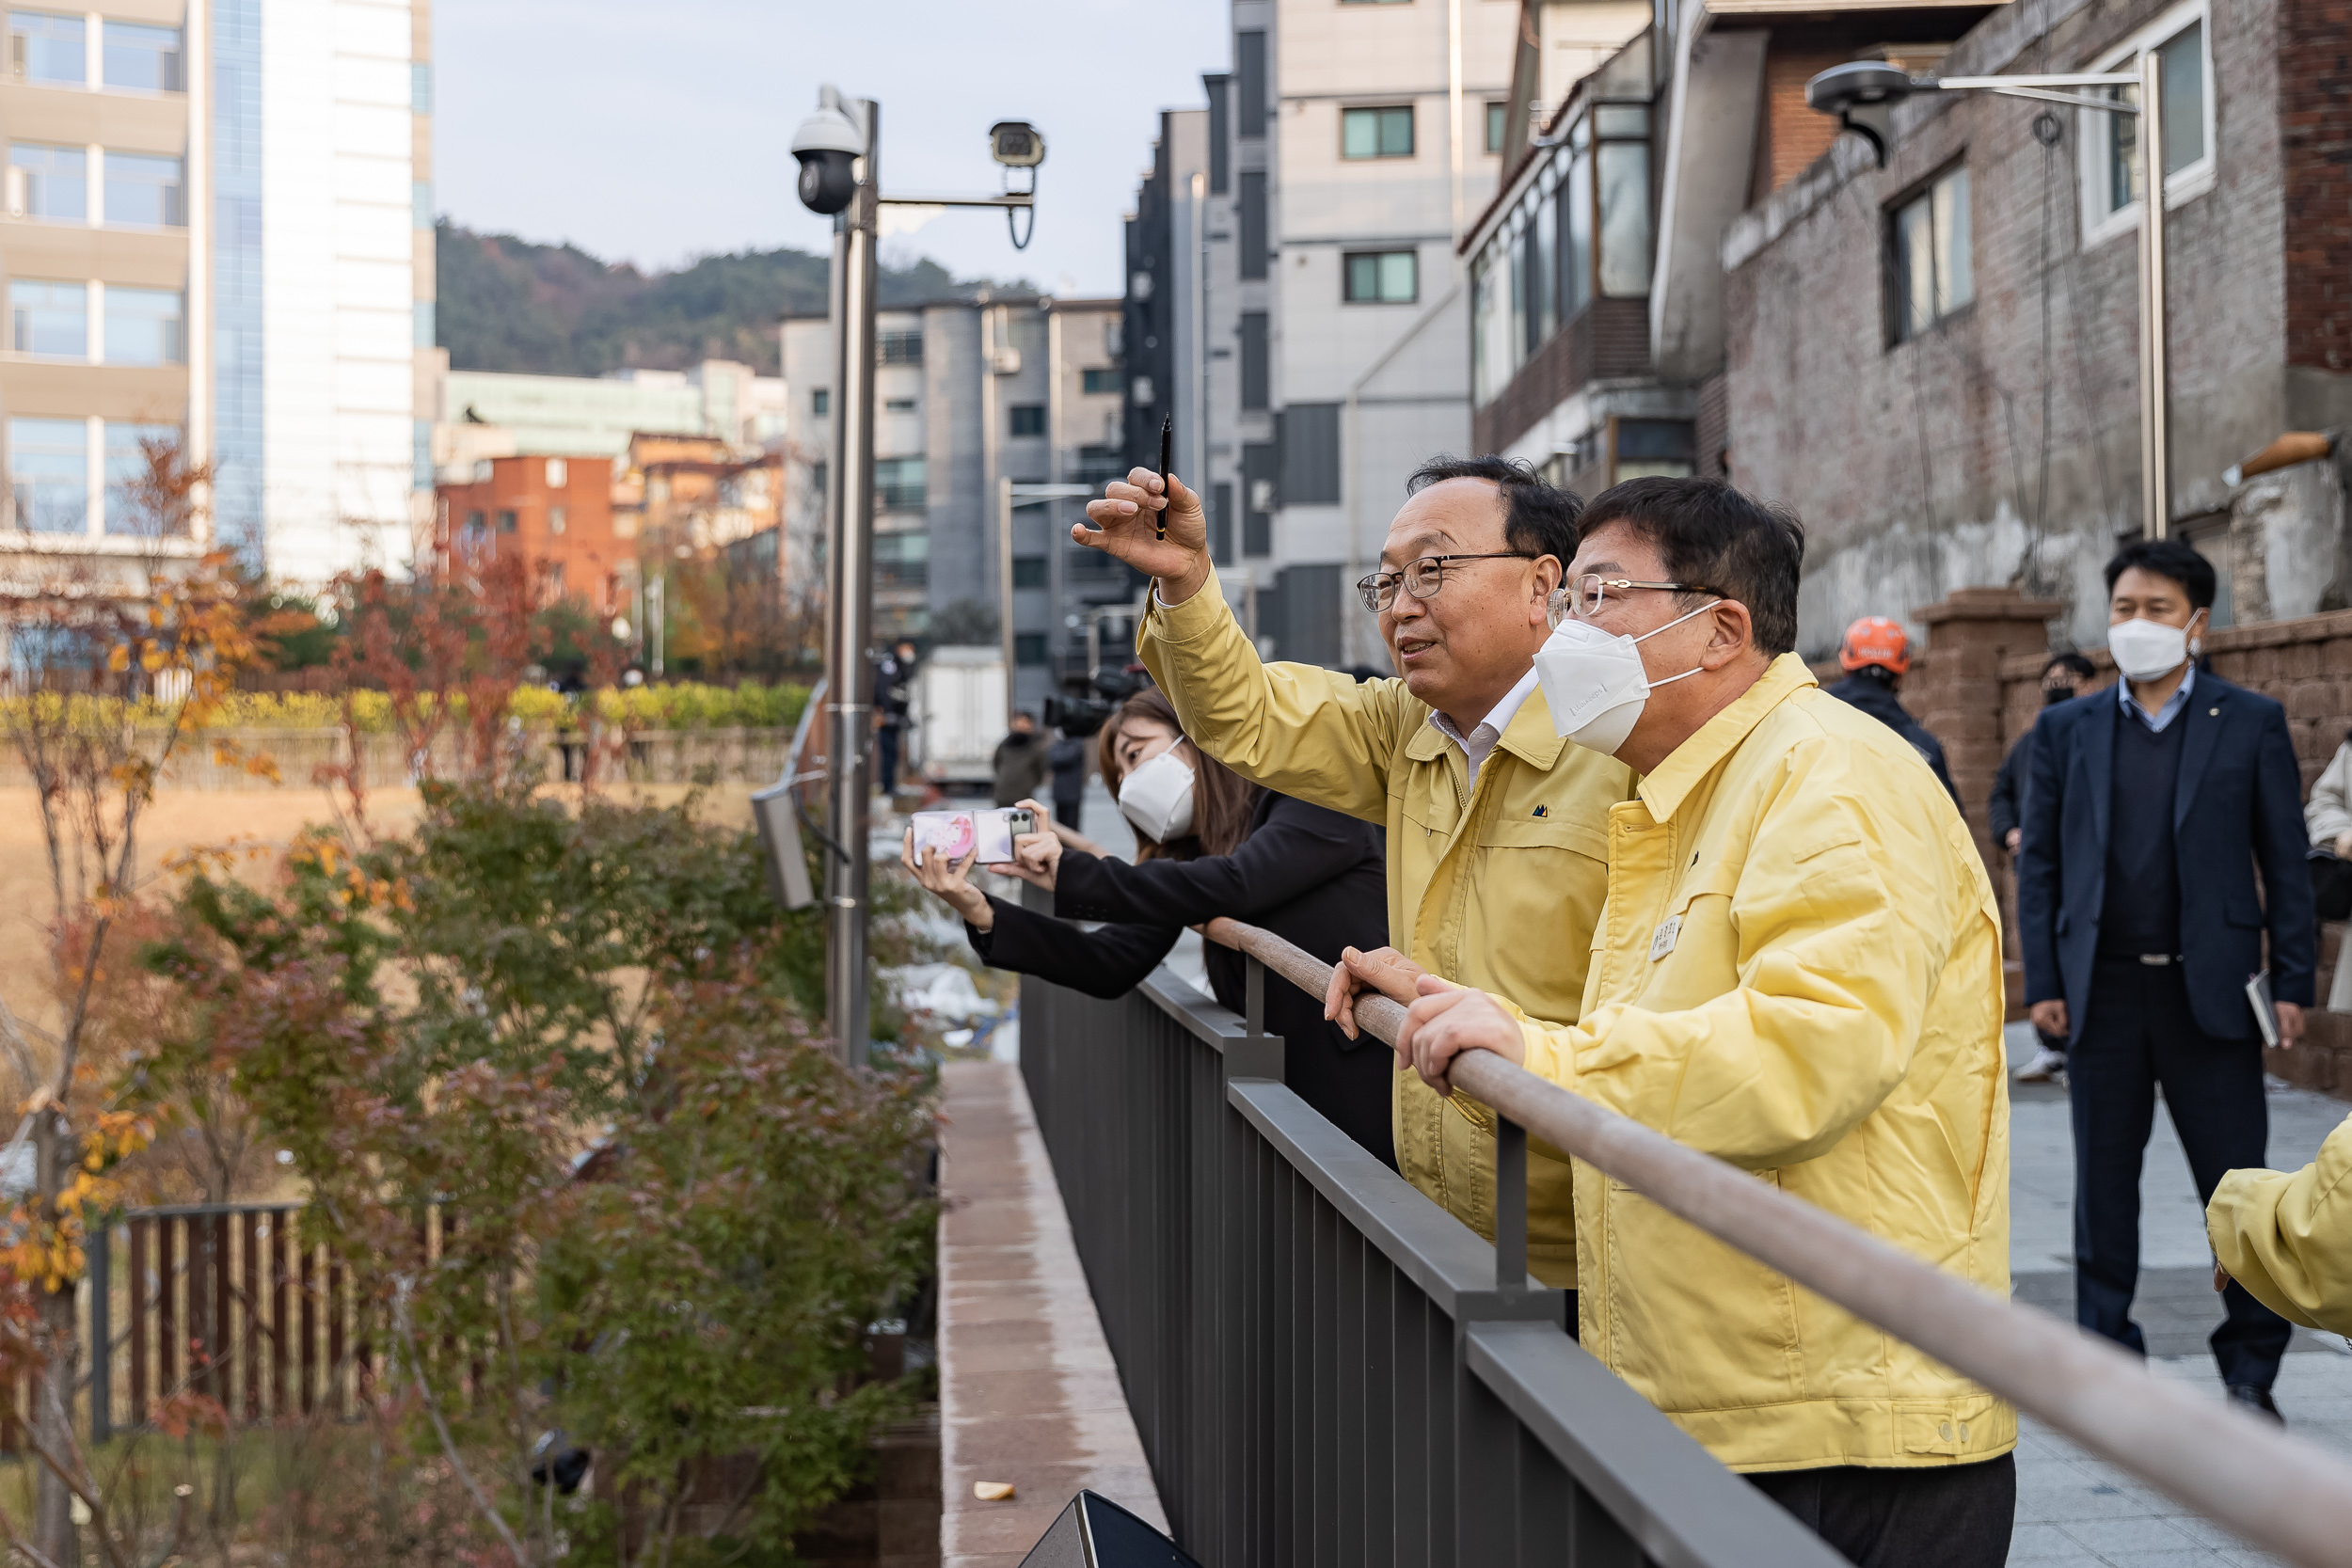
{"label": "weathered brick building facade with white-framed window, upper right", "polygon": [[[2171,531],[2216,562],[2220,623],[2336,609],[2352,588],[2331,465],[2223,480],[2286,430],[2352,423],[2347,24],[2343,0],[2053,0],[1985,14],[1940,61],[2114,71],[2159,47],[2197,66],[2166,110]],[[2140,205],[2107,197],[2129,165],[2110,125],[1919,94],[1891,115],[1884,169],[1842,136],[1726,230],[1708,456],[1806,520],[1809,654],[1856,616],[1969,585],[2058,599],[2065,646],[2105,639],[2098,569],[2140,527]],[[1898,214],[1952,172],[1966,299],[1912,327],[1893,308]]]}

